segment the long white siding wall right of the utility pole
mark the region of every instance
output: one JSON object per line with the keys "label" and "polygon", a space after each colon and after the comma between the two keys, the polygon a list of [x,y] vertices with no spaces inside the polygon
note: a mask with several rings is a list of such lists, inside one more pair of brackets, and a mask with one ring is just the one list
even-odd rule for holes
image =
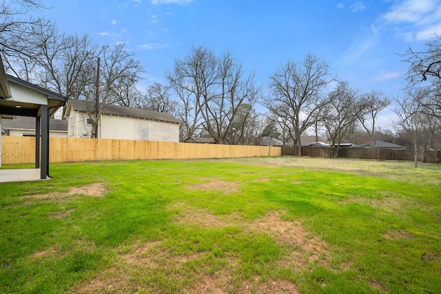
{"label": "long white siding wall right of the utility pole", "polygon": [[126,116],[101,116],[100,138],[179,142],[177,123]]}

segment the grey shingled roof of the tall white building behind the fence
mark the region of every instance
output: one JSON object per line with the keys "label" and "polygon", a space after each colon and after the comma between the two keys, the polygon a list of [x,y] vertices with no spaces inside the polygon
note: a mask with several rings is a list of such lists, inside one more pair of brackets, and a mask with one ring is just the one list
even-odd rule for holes
{"label": "grey shingled roof of the tall white building behind the fence", "polygon": [[[70,107],[76,112],[88,112],[88,103],[85,100],[69,99],[66,114],[70,112]],[[103,114],[145,118],[150,120],[165,121],[167,123],[181,123],[178,118],[175,118],[172,114],[168,114],[167,112],[154,112],[148,109],[125,107],[112,104],[104,105]]]}

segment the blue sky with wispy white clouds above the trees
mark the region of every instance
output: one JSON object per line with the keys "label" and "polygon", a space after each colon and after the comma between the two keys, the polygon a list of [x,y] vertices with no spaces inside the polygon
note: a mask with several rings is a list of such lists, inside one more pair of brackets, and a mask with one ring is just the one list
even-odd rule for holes
{"label": "blue sky with wispy white clouds above the trees", "polygon": [[407,63],[397,53],[441,33],[441,0],[45,0],[35,12],[61,31],[99,44],[125,42],[147,73],[145,85],[192,45],[229,50],[267,88],[288,59],[325,58],[351,87],[397,96]]}

